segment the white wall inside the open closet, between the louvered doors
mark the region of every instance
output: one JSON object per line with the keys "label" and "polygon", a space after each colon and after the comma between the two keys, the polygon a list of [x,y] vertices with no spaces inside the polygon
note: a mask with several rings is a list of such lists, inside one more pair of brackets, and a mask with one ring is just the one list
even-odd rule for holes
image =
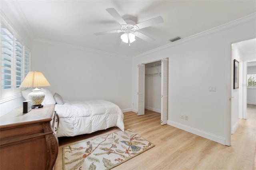
{"label": "white wall inside the open closet, between the louvered doors", "polygon": [[145,67],[145,109],[161,112],[161,65]]}

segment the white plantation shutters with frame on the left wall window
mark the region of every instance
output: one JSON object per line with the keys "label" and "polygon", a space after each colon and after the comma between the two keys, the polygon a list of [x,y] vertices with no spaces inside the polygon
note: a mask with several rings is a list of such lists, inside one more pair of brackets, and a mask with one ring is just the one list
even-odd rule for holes
{"label": "white plantation shutters with frame on the left wall window", "polygon": [[30,70],[30,52],[17,32],[1,15],[0,98],[20,93],[20,84]]}

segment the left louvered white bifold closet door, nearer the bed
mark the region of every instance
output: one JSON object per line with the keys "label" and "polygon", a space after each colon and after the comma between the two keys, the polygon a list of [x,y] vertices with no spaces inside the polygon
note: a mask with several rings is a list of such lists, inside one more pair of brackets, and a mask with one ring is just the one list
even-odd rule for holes
{"label": "left louvered white bifold closet door, nearer the bed", "polygon": [[138,87],[138,116],[144,115],[145,109],[145,65],[138,65],[139,87]]}

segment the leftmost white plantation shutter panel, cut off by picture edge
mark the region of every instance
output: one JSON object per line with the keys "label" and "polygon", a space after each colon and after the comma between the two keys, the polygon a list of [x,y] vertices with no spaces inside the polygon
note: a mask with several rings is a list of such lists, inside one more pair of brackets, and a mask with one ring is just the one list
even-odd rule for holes
{"label": "leftmost white plantation shutter panel, cut off by picture edge", "polygon": [[13,82],[13,35],[1,25],[1,88],[12,88]]}

